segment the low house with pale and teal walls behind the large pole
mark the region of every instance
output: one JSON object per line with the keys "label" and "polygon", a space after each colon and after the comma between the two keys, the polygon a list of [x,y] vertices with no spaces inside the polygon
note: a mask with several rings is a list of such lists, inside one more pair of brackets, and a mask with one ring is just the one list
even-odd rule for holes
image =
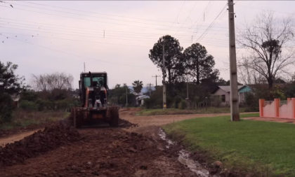
{"label": "low house with pale and teal walls behind the large pole", "polygon": [[[239,104],[244,103],[247,92],[251,92],[251,88],[248,85],[238,85]],[[218,86],[216,90],[211,92],[214,97],[221,98],[221,105],[230,105],[230,85]]]}

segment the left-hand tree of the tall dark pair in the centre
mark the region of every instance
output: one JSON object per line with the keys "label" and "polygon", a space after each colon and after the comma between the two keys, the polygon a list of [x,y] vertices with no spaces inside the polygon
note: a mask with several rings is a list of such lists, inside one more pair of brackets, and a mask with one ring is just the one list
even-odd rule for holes
{"label": "left-hand tree of the tall dark pair in the centre", "polygon": [[[166,71],[163,71],[163,45]],[[180,74],[178,72],[181,71],[181,67],[183,66],[181,64],[182,51],[183,48],[179,41],[172,36],[166,35],[159,38],[148,55],[152,62],[162,69],[165,74],[164,76],[167,76],[166,73],[168,73],[169,84],[173,83],[176,77]]]}

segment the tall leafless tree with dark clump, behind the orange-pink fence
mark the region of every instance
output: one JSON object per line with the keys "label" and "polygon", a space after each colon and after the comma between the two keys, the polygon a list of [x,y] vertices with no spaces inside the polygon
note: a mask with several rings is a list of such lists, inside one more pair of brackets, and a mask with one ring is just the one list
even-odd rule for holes
{"label": "tall leafless tree with dark clump, behind the orange-pink fence", "polygon": [[243,74],[243,67],[251,73],[248,79],[254,77],[255,80],[261,75],[271,88],[277,76],[290,76],[289,69],[295,64],[291,17],[279,19],[272,11],[263,11],[252,24],[245,24],[245,29],[238,30],[237,43],[247,50],[247,56],[242,57],[238,65],[242,69],[240,74]]}

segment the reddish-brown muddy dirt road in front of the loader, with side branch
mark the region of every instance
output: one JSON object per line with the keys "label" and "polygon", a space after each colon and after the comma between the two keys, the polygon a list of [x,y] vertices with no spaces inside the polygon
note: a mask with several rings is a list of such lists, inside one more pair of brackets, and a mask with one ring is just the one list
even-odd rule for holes
{"label": "reddish-brown muddy dirt road in front of the loader, with side branch", "polygon": [[[129,127],[70,129],[57,123],[2,138],[15,142],[0,147],[0,176],[202,176],[178,161],[179,146],[167,148],[159,136],[160,125],[197,115],[138,117],[135,111],[120,111],[120,118],[135,124]],[[198,115],[204,116],[212,115]]]}

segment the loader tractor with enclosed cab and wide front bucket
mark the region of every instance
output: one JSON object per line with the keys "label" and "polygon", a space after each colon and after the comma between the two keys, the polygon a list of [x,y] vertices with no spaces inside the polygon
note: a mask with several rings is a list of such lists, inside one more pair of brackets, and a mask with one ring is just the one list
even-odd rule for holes
{"label": "loader tractor with enclosed cab and wide front bucket", "polygon": [[81,73],[79,96],[81,107],[71,108],[70,122],[76,127],[108,123],[119,126],[119,106],[109,106],[106,72]]}

